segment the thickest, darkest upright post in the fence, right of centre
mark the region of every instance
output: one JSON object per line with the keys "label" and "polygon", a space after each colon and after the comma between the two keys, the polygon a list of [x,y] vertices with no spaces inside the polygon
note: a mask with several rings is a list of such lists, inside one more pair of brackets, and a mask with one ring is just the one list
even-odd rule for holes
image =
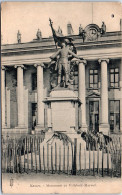
{"label": "thickest, darkest upright post in the fence, right of centre", "polygon": [[73,175],[77,174],[76,159],[77,158],[77,138],[74,138],[74,160],[73,160]]}

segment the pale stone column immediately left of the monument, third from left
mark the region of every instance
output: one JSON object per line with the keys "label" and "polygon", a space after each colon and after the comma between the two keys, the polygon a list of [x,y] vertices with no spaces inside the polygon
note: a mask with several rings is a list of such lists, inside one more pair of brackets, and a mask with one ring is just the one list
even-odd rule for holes
{"label": "pale stone column immediately left of the monument, third from left", "polygon": [[44,64],[35,64],[37,68],[37,126],[36,131],[44,129],[44,103],[43,103],[43,67]]}

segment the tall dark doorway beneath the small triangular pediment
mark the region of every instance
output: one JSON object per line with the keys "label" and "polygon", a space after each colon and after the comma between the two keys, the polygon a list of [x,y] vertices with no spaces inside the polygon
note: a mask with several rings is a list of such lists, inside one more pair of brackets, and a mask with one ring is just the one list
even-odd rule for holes
{"label": "tall dark doorway beneath the small triangular pediment", "polygon": [[99,131],[99,101],[89,102],[89,128],[90,131]]}

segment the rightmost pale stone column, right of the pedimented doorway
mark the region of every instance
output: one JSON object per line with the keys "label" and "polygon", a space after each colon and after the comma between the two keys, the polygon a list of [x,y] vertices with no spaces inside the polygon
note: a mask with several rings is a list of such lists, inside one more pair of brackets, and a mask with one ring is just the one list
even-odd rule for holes
{"label": "rightmost pale stone column, right of the pedimented doorway", "polygon": [[99,131],[102,131],[104,134],[109,132],[109,122],[108,122],[108,73],[107,73],[107,64],[109,59],[100,59],[99,63],[101,64],[101,121]]}

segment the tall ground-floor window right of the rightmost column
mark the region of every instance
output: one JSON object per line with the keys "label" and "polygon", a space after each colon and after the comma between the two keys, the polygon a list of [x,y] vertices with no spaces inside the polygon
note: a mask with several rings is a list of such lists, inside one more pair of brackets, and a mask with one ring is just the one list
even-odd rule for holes
{"label": "tall ground-floor window right of the rightmost column", "polygon": [[110,131],[118,133],[120,131],[120,101],[110,101]]}

